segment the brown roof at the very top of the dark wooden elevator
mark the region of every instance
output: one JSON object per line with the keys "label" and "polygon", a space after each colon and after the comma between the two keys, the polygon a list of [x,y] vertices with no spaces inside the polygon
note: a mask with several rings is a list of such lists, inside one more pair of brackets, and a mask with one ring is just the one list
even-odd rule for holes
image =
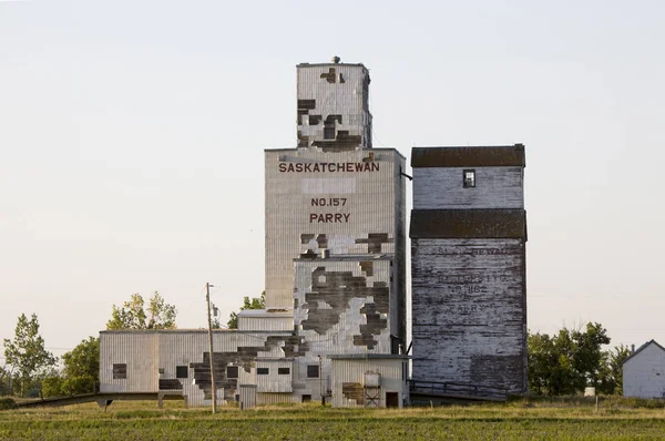
{"label": "brown roof at the very top of the dark wooden elevator", "polygon": [[524,145],[475,147],[413,147],[411,167],[526,166]]}

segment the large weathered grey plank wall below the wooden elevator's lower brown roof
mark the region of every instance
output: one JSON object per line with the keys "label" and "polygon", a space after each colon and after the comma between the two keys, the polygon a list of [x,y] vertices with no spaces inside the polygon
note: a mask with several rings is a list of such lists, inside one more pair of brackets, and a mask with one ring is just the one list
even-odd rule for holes
{"label": "large weathered grey plank wall below the wooden elevator's lower brown roof", "polygon": [[523,239],[413,239],[413,378],[526,384]]}

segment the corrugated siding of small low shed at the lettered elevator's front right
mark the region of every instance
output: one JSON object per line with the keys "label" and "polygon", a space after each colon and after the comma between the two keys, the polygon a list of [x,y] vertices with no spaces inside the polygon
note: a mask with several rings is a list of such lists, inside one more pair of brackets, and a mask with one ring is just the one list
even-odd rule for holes
{"label": "corrugated siding of small low shed at the lettered elevator's front right", "polygon": [[408,399],[408,388],[406,375],[403,372],[405,361],[401,359],[391,360],[332,360],[332,407],[336,408],[356,408],[375,403],[358,403],[355,399],[345,397],[345,383],[365,384],[366,372],[378,372],[380,378],[380,399],[379,407],[386,407],[386,392],[399,393],[399,407],[402,407],[403,400]]}

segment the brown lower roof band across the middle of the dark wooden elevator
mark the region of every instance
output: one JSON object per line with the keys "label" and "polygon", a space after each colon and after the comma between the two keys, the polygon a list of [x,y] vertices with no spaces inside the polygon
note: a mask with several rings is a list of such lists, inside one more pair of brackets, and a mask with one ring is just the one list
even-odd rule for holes
{"label": "brown lower roof band across the middle of the dark wooden elevator", "polygon": [[524,238],[523,209],[413,209],[410,237]]}

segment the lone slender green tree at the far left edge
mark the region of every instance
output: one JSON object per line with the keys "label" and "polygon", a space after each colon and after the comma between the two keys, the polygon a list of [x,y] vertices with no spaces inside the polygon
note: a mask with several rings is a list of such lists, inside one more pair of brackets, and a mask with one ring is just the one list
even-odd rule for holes
{"label": "lone slender green tree at the far left edge", "polygon": [[55,365],[58,359],[44,349],[44,339],[39,335],[37,315],[30,320],[21,314],[17,322],[13,341],[4,339],[4,358],[16,368],[21,396],[41,370]]}

